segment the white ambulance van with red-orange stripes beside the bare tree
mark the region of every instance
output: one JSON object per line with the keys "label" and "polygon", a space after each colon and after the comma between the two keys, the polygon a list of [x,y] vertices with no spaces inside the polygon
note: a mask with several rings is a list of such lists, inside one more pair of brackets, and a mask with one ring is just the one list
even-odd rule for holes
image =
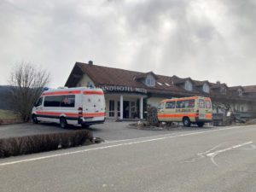
{"label": "white ambulance van with red-orange stripes beside the bare tree", "polygon": [[46,90],[34,104],[32,121],[89,126],[105,121],[105,98],[102,89],[75,87]]}

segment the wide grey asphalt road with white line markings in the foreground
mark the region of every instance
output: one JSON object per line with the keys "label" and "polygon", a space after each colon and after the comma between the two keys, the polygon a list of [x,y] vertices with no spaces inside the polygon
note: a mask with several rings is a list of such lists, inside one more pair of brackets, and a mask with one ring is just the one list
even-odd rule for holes
{"label": "wide grey asphalt road with white line markings in the foreground", "polygon": [[0,191],[253,192],[255,138],[249,125],[13,157],[0,160]]}

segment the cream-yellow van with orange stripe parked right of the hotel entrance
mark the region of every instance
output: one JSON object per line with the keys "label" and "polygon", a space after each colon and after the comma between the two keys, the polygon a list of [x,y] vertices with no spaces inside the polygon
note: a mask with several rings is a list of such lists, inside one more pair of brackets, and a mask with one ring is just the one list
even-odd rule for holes
{"label": "cream-yellow van with orange stripe parked right of the hotel entrance", "polygon": [[212,102],[209,97],[191,96],[166,99],[158,108],[160,122],[183,122],[184,126],[203,126],[212,121]]}

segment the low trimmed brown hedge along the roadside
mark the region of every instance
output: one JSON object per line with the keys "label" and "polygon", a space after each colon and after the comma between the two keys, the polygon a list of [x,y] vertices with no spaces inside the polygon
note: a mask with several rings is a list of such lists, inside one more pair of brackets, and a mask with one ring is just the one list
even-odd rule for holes
{"label": "low trimmed brown hedge along the roadside", "polygon": [[0,158],[72,148],[90,143],[93,143],[93,136],[88,130],[3,138],[0,139]]}

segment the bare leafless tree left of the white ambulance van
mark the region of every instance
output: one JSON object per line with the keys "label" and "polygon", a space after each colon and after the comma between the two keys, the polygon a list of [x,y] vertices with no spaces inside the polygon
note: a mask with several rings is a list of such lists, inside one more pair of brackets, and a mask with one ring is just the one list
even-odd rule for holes
{"label": "bare leafless tree left of the white ambulance van", "polygon": [[48,83],[49,73],[28,62],[21,62],[10,73],[9,102],[24,122],[30,119],[33,103]]}

